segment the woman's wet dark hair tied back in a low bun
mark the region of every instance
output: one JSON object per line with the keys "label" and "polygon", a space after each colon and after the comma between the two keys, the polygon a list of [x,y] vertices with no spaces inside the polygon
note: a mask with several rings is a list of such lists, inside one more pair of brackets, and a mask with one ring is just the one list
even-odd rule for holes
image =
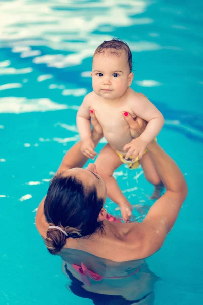
{"label": "woman's wet dark hair tied back in a low bun", "polygon": [[68,236],[56,228],[47,231],[46,246],[51,254],[57,254],[66,239],[90,236],[100,229],[103,222],[98,216],[104,199],[98,198],[95,186],[85,188],[74,176],[54,176],[44,203],[44,214],[50,226],[59,226]]}

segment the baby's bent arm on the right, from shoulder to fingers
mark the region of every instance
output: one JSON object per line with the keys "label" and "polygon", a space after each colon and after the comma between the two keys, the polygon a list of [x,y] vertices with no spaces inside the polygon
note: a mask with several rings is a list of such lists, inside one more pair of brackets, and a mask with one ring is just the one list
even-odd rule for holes
{"label": "baby's bent arm on the right, from shoulder to fingers", "polygon": [[130,155],[133,155],[132,159],[136,158],[137,155],[141,159],[147,145],[159,134],[164,124],[162,113],[143,94],[138,95],[134,101],[131,101],[131,110],[138,117],[146,120],[148,124],[138,138],[124,146],[124,150],[129,149],[126,159]]}

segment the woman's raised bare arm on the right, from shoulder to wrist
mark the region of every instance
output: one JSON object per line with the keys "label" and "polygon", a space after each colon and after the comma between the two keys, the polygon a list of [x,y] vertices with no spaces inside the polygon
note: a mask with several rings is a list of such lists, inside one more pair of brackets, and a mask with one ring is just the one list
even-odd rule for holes
{"label": "woman's raised bare arm on the right, from shoulder to wrist", "polygon": [[174,160],[155,141],[148,145],[147,150],[166,192],[153,204],[141,224],[145,257],[161,248],[187,196],[186,181]]}

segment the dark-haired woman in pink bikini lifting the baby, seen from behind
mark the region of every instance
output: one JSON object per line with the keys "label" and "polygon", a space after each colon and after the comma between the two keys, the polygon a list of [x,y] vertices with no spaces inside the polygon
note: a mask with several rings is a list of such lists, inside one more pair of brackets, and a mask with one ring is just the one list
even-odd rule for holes
{"label": "dark-haired woman in pink bikini lifting the baby, seen from behind", "polygon": [[[102,136],[92,118],[95,144]],[[132,136],[146,124],[124,116]],[[47,196],[39,205],[36,227],[51,254],[63,260],[63,271],[71,279],[71,290],[94,304],[152,304],[157,277],[145,258],[158,251],[172,229],[187,195],[185,179],[175,162],[152,141],[147,147],[166,187],[165,194],[150,208],[142,223],[107,220],[103,208],[106,186],[96,166],[81,167],[87,159],[81,143],[65,155]]]}

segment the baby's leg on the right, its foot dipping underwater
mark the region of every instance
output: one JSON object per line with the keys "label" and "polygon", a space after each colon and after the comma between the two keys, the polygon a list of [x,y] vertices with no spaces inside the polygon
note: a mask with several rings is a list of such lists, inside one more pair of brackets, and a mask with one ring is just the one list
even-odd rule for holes
{"label": "baby's leg on the right, its foot dipping underwater", "polygon": [[161,191],[164,186],[148,153],[143,155],[140,164],[142,165],[145,178],[154,185],[154,192],[151,199],[158,199],[161,196]]}

